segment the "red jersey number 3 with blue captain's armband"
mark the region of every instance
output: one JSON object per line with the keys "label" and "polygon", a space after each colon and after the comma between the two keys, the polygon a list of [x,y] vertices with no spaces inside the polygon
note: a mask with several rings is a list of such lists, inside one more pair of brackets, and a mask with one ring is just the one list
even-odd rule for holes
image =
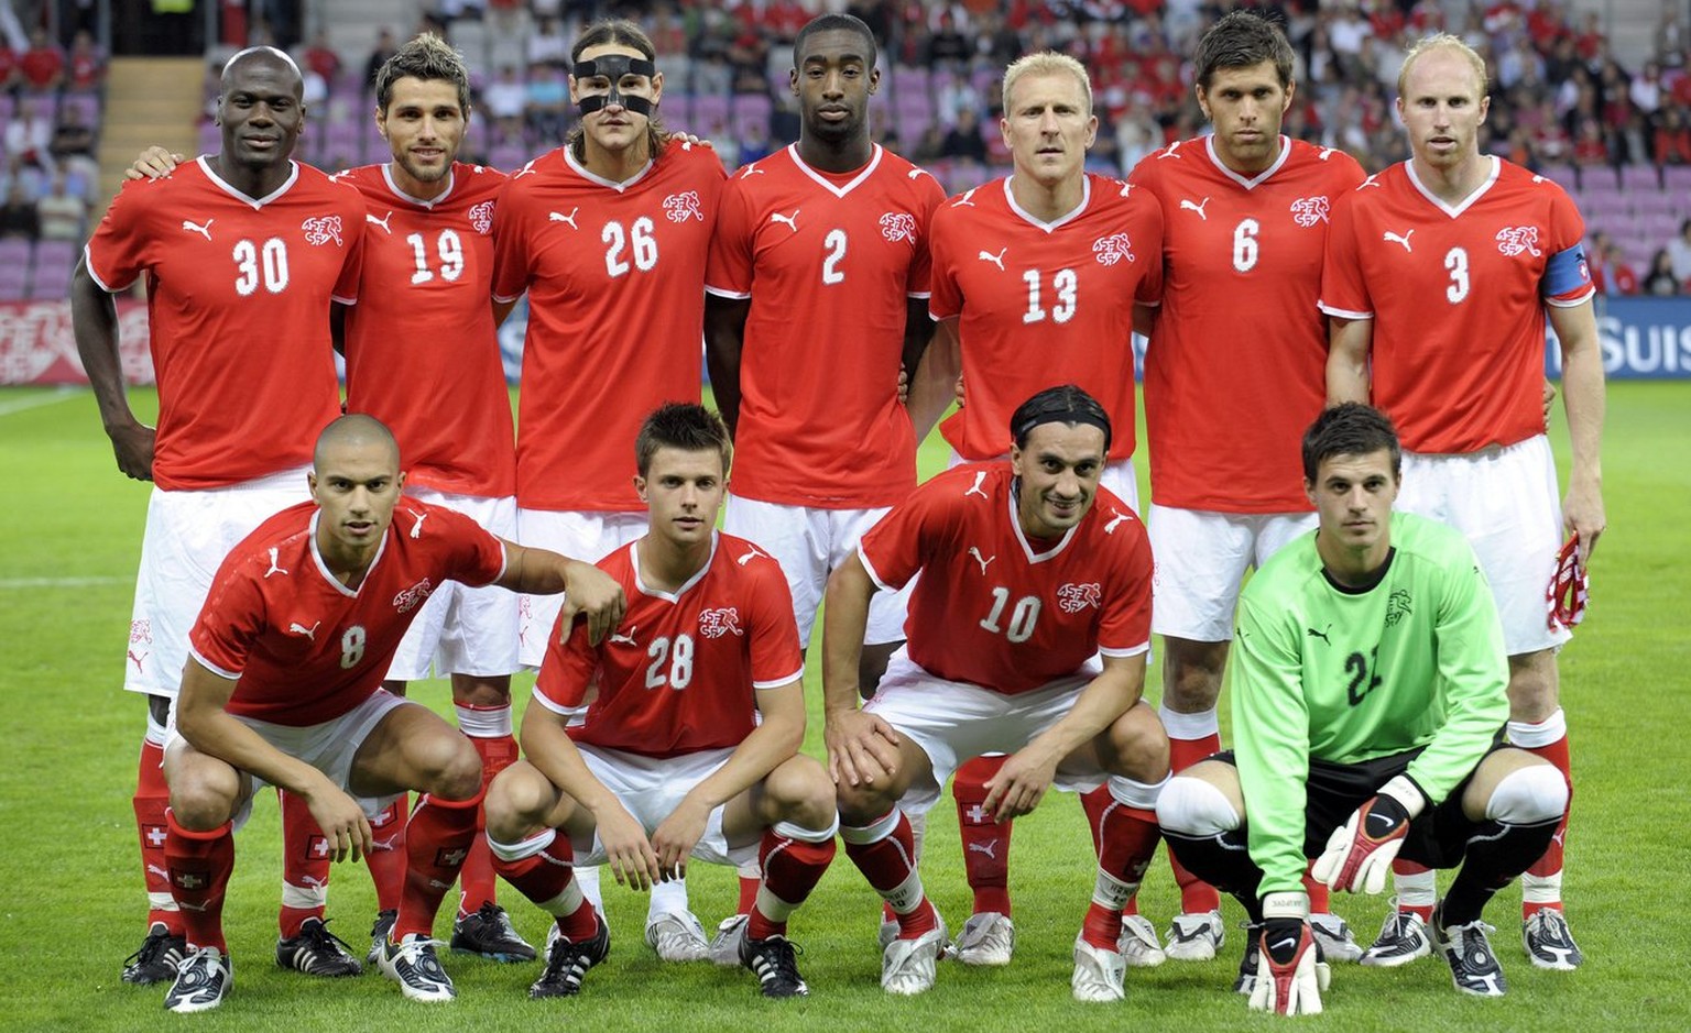
{"label": "red jersey number 3 with blue captain's armband", "polygon": [[1373,404],[1412,451],[1542,435],[1544,306],[1593,292],[1573,199],[1490,161],[1491,178],[1456,208],[1402,162],[1333,211],[1321,309],[1373,320]]}

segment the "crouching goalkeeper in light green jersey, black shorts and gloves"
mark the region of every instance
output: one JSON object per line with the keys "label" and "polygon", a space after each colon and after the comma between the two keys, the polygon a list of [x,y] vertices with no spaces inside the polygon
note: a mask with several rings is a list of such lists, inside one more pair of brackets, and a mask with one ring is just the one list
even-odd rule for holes
{"label": "crouching goalkeeper in light green jersey, black shorts and gloves", "polygon": [[1304,435],[1314,534],[1240,597],[1234,749],[1157,803],[1175,857],[1250,913],[1234,989],[1255,1009],[1321,1011],[1305,859],[1334,889],[1380,893],[1402,854],[1458,867],[1432,915],[1456,987],[1503,992],[1480,913],[1542,852],[1568,801],[1547,761],[1498,744],[1508,659],[1491,592],[1451,527],[1393,514],[1392,423],[1346,402]]}

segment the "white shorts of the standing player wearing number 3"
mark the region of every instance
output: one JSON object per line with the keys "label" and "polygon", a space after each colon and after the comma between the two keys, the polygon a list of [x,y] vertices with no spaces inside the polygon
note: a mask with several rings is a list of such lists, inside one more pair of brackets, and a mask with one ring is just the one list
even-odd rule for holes
{"label": "white shorts of the standing player wearing number 3", "polygon": [[1510,656],[1561,646],[1573,634],[1551,631],[1544,590],[1562,546],[1562,504],[1556,456],[1544,435],[1507,448],[1466,455],[1404,453],[1397,507],[1461,531],[1480,556],[1503,620]]}

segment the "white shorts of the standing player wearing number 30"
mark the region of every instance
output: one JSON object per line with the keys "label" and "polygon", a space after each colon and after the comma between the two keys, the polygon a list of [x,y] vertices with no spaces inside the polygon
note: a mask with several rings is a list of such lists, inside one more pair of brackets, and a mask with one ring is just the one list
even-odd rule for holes
{"label": "white shorts of the standing player wearing number 30", "polygon": [[259,524],[309,497],[304,467],[227,489],[152,489],[123,688],[176,698],[188,663],[188,632],[200,619],[218,566]]}

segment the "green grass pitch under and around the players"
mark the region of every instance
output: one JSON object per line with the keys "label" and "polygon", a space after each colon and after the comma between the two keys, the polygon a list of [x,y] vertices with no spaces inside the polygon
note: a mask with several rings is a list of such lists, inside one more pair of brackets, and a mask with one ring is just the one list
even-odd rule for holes
{"label": "green grass pitch under and around the players", "polygon": [[[137,407],[152,397],[137,394]],[[1561,423],[1557,414],[1556,423]],[[1564,435],[1557,436],[1566,462]],[[1018,948],[1008,969],[944,964],[918,999],[878,986],[878,901],[844,855],[796,915],[812,996],[768,1003],[746,972],[659,965],[641,940],[644,899],[607,884],[614,947],[582,997],[528,1001],[536,965],[446,957],[460,997],[409,1004],[380,976],[311,981],[274,964],[279,886],[276,808],[260,800],[238,837],[227,926],[235,989],[218,1011],[176,1018],[162,989],[118,982],[142,928],[130,791],[142,702],[120,688],[130,588],[145,485],[115,468],[88,392],[0,391],[0,1030],[1234,1030],[1278,1028],[1228,991],[1240,959],[1229,932],[1221,959],[1128,974],[1128,999],[1082,1006],[1069,997],[1069,948],[1092,862],[1081,810],[1053,795],[1018,823],[1011,889]],[[944,463],[930,441],[923,465]],[[1143,473],[1143,470],[1141,470]],[[1574,742],[1578,793],[1568,840],[1569,915],[1586,965],[1574,974],[1530,969],[1519,942],[1519,891],[1490,908],[1510,979],[1503,1001],[1461,997],[1437,960],[1382,972],[1334,972],[1327,1013],[1299,1019],[1324,1030],[1684,1030],[1691,991],[1691,926],[1679,893],[1691,883],[1686,818],[1686,671],[1691,670],[1691,384],[1615,384],[1605,445],[1610,531],[1593,565],[1586,624],[1562,656],[1562,697]],[[812,664],[813,668],[813,664]],[[810,673],[818,695],[815,670]],[[1157,695],[1157,671],[1146,695]],[[528,680],[516,695],[526,698]],[[414,695],[445,707],[443,683]],[[1226,707],[1223,707],[1226,710]],[[813,715],[817,713],[813,703]],[[807,749],[820,756],[820,719]],[[925,879],[940,910],[967,915],[950,808],[930,823]],[[504,889],[517,926],[534,942],[545,918]],[[693,908],[707,925],[732,905],[732,874],[695,869]],[[1141,894],[1158,926],[1177,903],[1158,857]],[[369,877],[340,866],[331,928],[360,948],[374,910]],[[1383,898],[1336,899],[1365,942]],[[1241,913],[1228,905],[1228,920]],[[443,920],[438,932],[448,930]]]}

